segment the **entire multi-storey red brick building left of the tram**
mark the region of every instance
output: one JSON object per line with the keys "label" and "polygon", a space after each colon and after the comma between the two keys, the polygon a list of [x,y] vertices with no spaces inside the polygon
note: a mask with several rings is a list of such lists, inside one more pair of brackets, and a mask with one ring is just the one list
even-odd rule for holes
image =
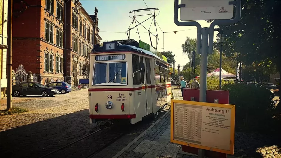
{"label": "entire multi-storey red brick building left of the tram", "polygon": [[22,64],[43,84],[73,85],[88,77],[83,67],[89,63],[97,25],[79,1],[14,0],[13,6],[13,69]]}

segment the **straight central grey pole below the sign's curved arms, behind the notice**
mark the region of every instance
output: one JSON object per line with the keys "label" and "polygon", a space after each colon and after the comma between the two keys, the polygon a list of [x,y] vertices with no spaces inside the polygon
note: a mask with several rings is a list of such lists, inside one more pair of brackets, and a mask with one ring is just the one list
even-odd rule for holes
{"label": "straight central grey pole below the sign's curved arms, behind the notice", "polygon": [[[206,102],[207,92],[207,62],[208,62],[208,38],[209,28],[202,28],[202,47],[201,47],[201,61],[200,61],[200,102]],[[198,157],[204,158],[204,149],[198,149]]]}

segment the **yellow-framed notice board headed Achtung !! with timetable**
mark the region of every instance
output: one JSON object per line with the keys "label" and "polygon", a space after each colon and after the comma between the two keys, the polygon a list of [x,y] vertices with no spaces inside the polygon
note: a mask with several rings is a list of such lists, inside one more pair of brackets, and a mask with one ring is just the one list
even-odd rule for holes
{"label": "yellow-framed notice board headed Achtung !! with timetable", "polygon": [[171,100],[171,142],[234,154],[235,105]]}

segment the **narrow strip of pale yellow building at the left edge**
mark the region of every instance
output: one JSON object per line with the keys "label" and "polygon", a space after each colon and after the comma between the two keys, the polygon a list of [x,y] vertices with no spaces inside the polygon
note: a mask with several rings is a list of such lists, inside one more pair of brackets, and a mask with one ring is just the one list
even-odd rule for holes
{"label": "narrow strip of pale yellow building at the left edge", "polygon": [[0,1],[0,98],[5,97],[7,88],[7,22],[8,20],[8,0]]}

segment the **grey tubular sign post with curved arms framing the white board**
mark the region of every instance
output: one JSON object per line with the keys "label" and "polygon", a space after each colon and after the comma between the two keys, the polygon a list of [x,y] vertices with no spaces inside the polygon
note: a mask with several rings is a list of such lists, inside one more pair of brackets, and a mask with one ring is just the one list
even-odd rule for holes
{"label": "grey tubular sign post with curved arms framing the white board", "polygon": [[[234,5],[235,5],[235,17],[233,18]],[[182,22],[179,22],[178,20],[179,8],[181,8],[180,19],[182,20]],[[214,26],[237,23],[240,19],[240,16],[241,16],[241,0],[236,0],[236,1],[235,0],[226,0],[226,1],[181,0],[181,4],[179,4],[179,0],[175,0],[175,5],[174,5],[175,24],[178,26],[197,27],[196,53],[201,54],[200,102],[206,102],[207,58],[208,58],[208,54],[213,54]],[[207,27],[202,28],[198,22],[191,21],[191,20],[210,20],[210,19],[214,19],[214,21],[211,23],[209,28]],[[199,158],[204,158],[203,149],[199,148],[198,150]]]}

